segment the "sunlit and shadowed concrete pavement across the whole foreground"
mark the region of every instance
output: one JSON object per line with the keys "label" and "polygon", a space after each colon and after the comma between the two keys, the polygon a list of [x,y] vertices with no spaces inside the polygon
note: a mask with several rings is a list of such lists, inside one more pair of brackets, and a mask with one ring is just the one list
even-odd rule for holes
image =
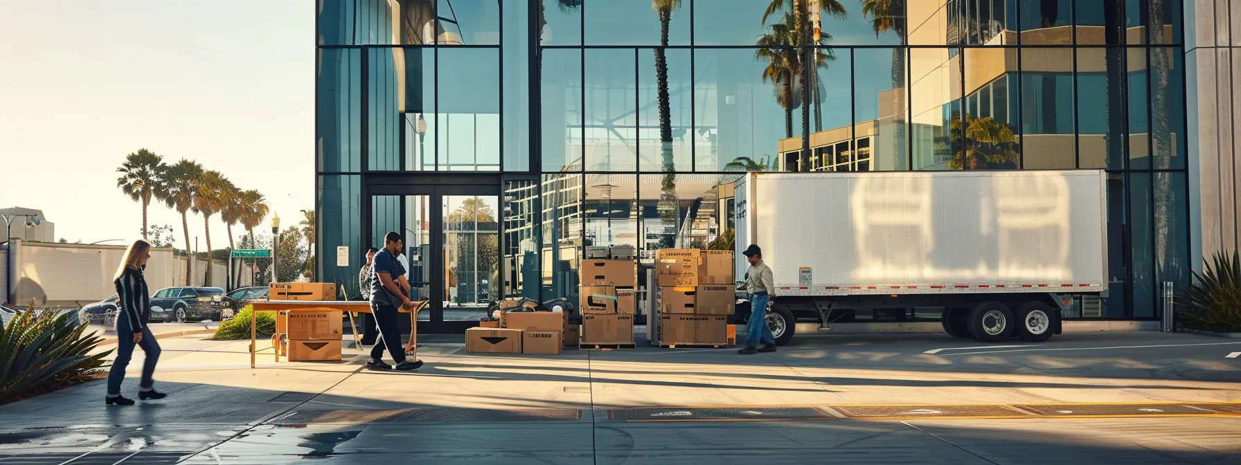
{"label": "sunlit and shadowed concrete pavement across the whole foreground", "polygon": [[[73,463],[123,459],[115,454],[137,454],[124,463],[196,464],[1241,461],[1241,415],[666,422],[709,405],[737,407],[715,413],[725,417],[789,419],[798,408],[848,410],[831,405],[1237,402],[1241,361],[1226,356],[1241,342],[1224,339],[1096,332],[988,346],[942,335],[824,336],[746,357],[649,347],[484,356],[463,353],[459,336],[419,341],[427,366],[406,374],[361,370],[354,348],[346,348],[352,362],[273,363],[266,353],[249,370],[246,341],[161,340],[156,386],[168,399],[104,408],[96,382],[2,405],[0,461],[60,464],[82,454]],[[140,352],[134,358],[132,374]],[[137,379],[125,386],[132,394]],[[627,417],[642,407],[673,417]]]}

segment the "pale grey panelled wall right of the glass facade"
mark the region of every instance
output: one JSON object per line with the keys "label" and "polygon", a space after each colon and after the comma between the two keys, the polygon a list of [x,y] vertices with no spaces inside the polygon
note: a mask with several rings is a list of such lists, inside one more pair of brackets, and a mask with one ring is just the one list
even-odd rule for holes
{"label": "pale grey panelled wall right of the glass facade", "polygon": [[1241,4],[1185,0],[1185,87],[1189,114],[1189,172],[1193,258],[1239,246],[1237,167],[1241,118]]}

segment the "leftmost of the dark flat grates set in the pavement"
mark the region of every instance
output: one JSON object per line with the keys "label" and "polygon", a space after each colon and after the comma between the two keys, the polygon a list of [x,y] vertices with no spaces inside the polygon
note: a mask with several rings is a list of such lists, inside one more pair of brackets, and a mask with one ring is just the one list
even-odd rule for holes
{"label": "leftmost of the dark flat grates set in the pavement", "polygon": [[835,417],[814,407],[633,408],[608,412],[619,422],[772,422],[822,420]]}

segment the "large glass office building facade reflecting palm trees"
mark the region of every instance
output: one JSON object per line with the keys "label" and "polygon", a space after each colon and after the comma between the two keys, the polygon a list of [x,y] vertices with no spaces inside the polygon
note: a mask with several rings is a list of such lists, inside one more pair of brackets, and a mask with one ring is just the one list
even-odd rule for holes
{"label": "large glass office building facade reflecting palm trees", "polygon": [[400,231],[421,331],[462,331],[576,301],[585,247],[726,241],[747,170],[1106,170],[1111,289],[1071,317],[1155,319],[1199,260],[1181,0],[769,4],[319,0],[320,279]]}

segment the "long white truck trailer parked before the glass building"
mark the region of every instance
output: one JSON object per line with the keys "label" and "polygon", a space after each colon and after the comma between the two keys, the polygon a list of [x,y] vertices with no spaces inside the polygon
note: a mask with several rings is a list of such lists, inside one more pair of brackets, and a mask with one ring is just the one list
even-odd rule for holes
{"label": "long white truck trailer parked before the glass building", "polygon": [[[1041,342],[1107,285],[1102,170],[755,172],[736,184],[741,254],[774,274],[767,322],[938,317],[957,337]],[[748,319],[750,304],[737,301]],[[740,322],[740,321],[738,321]]]}

